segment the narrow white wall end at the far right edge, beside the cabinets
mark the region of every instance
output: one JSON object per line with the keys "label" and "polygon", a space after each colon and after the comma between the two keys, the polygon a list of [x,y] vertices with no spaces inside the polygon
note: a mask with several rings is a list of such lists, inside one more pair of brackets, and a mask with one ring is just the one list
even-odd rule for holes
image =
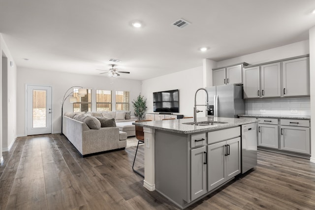
{"label": "narrow white wall end at the far right edge, beside the cabinets", "polygon": [[[310,79],[315,81],[315,26],[310,29]],[[311,161],[315,163],[315,83],[311,86]],[[313,134],[312,134],[313,133]]]}

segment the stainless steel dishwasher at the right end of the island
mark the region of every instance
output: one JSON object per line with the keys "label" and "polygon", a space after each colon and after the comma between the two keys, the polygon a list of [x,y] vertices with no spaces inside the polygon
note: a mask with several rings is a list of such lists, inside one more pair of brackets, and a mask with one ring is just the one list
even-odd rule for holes
{"label": "stainless steel dishwasher at the right end of the island", "polygon": [[242,125],[242,174],[257,165],[257,122]]}

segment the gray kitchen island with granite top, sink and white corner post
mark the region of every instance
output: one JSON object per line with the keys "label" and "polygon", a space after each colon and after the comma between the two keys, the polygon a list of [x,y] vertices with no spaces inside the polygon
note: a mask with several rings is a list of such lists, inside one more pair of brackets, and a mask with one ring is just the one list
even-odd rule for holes
{"label": "gray kitchen island with granite top, sink and white corner post", "polygon": [[242,126],[254,132],[256,144],[255,119],[205,117],[197,122],[133,123],[144,127],[144,187],[182,209],[242,173]]}

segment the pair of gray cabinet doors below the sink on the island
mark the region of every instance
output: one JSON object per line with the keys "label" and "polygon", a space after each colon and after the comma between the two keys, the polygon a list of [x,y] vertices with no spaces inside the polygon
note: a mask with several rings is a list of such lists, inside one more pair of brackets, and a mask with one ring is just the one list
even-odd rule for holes
{"label": "pair of gray cabinet doors below the sink on the island", "polygon": [[208,191],[241,173],[241,138],[208,145]]}

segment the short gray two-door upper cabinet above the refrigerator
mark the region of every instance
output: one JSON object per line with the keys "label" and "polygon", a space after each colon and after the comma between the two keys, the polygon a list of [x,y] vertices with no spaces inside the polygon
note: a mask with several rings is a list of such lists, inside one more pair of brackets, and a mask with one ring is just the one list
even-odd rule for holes
{"label": "short gray two-door upper cabinet above the refrigerator", "polygon": [[242,84],[243,83],[242,70],[243,66],[246,65],[248,65],[248,63],[243,62],[235,65],[212,69],[213,86]]}

